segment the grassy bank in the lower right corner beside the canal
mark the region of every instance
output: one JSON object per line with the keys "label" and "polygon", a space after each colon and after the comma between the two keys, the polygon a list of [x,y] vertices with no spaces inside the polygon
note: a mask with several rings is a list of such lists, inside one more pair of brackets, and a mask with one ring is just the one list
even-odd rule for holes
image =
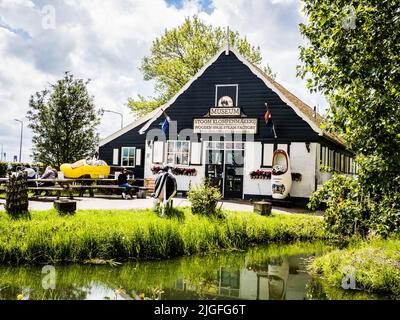
{"label": "grassy bank in the lower right corner beside the canal", "polygon": [[323,284],[342,288],[343,270],[349,266],[354,267],[357,289],[400,298],[400,240],[356,242],[316,258],[311,271]]}

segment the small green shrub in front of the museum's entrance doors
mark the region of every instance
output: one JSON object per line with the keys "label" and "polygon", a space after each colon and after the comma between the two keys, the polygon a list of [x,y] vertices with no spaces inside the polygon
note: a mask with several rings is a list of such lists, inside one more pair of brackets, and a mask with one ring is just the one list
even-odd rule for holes
{"label": "small green shrub in front of the museum's entrance doors", "polygon": [[220,211],[217,209],[217,205],[221,198],[219,188],[207,179],[203,179],[203,182],[199,186],[191,187],[188,192],[188,199],[192,204],[193,214],[217,216]]}

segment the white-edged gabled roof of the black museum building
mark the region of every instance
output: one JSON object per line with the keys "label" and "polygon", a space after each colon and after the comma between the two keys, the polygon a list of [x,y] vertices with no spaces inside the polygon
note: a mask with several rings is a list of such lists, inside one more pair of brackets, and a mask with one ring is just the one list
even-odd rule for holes
{"label": "white-edged gabled roof of the black museum building", "polygon": [[132,123],[131,125],[121,129],[120,131],[117,131],[113,135],[107,137],[106,139],[102,140],[100,142],[100,146],[108,143],[109,141],[117,138],[118,136],[128,132],[131,129],[134,129],[142,124],[143,127],[140,128],[139,133],[144,134],[146,130],[150,127],[150,125],[156,121],[163,113],[163,110],[168,109],[175,101],[176,99],[184,93],[190,86],[191,84],[196,81],[207,69],[210,67],[218,58],[219,56],[224,53],[228,54],[232,52],[244,65],[246,65],[258,78],[260,78],[265,85],[270,88],[273,92],[275,92],[281,99],[284,101],[288,106],[290,106],[296,114],[302,118],[304,121],[306,121],[310,127],[318,133],[320,136],[324,136],[325,138],[336,142],[338,144],[344,145],[344,141],[341,137],[339,137],[336,134],[330,133],[326,130],[323,130],[321,128],[321,124],[323,123],[323,118],[314,113],[313,108],[308,106],[306,103],[301,101],[298,97],[296,97],[294,94],[289,92],[286,88],[284,88],[281,84],[276,82],[274,79],[272,79],[270,76],[268,76],[265,72],[263,72],[260,68],[257,66],[253,65],[249,61],[247,61],[239,52],[237,52],[234,48],[228,48],[225,47],[221,49],[206,65],[201,68],[196,75],[188,81],[185,86],[182,87],[182,89],[167,103],[162,105],[161,107],[155,109],[148,115],[140,118],[136,122]]}

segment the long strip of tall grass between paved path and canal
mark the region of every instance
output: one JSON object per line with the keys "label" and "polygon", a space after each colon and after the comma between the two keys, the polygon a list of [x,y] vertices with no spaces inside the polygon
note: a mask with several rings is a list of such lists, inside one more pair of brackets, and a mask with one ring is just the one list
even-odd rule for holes
{"label": "long strip of tall grass between paved path and canal", "polygon": [[31,212],[30,220],[12,220],[0,212],[0,264],[168,258],[325,237],[320,217],[226,212],[217,220],[192,215],[190,208],[176,212],[174,218],[159,218],[151,210],[91,210],[73,216],[50,210]]}

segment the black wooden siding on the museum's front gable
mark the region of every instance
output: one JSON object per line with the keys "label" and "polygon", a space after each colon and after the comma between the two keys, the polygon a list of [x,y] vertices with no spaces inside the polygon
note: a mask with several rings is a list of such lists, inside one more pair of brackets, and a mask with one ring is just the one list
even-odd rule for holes
{"label": "black wooden siding on the museum's front gable", "polygon": [[[215,104],[215,90],[218,84],[238,84],[238,106],[242,112],[251,118],[258,119],[258,133],[255,141],[263,143],[290,143],[290,142],[321,142],[324,138],[301,119],[295,111],[283,102],[279,96],[269,89],[234,53],[220,57],[183,92],[177,100],[166,110],[173,121],[177,121],[178,133],[182,129],[193,128],[193,119],[201,118]],[[264,122],[268,103],[272,120],[275,124],[277,139],[267,132]],[[164,115],[161,115],[149,129],[161,129]],[[100,158],[112,163],[113,149],[119,149],[119,163],[121,162],[121,147],[136,147],[142,149],[141,166],[135,167],[137,177],[143,177],[145,161],[146,134],[139,134],[143,125],[132,129],[122,136],[100,147]]]}

